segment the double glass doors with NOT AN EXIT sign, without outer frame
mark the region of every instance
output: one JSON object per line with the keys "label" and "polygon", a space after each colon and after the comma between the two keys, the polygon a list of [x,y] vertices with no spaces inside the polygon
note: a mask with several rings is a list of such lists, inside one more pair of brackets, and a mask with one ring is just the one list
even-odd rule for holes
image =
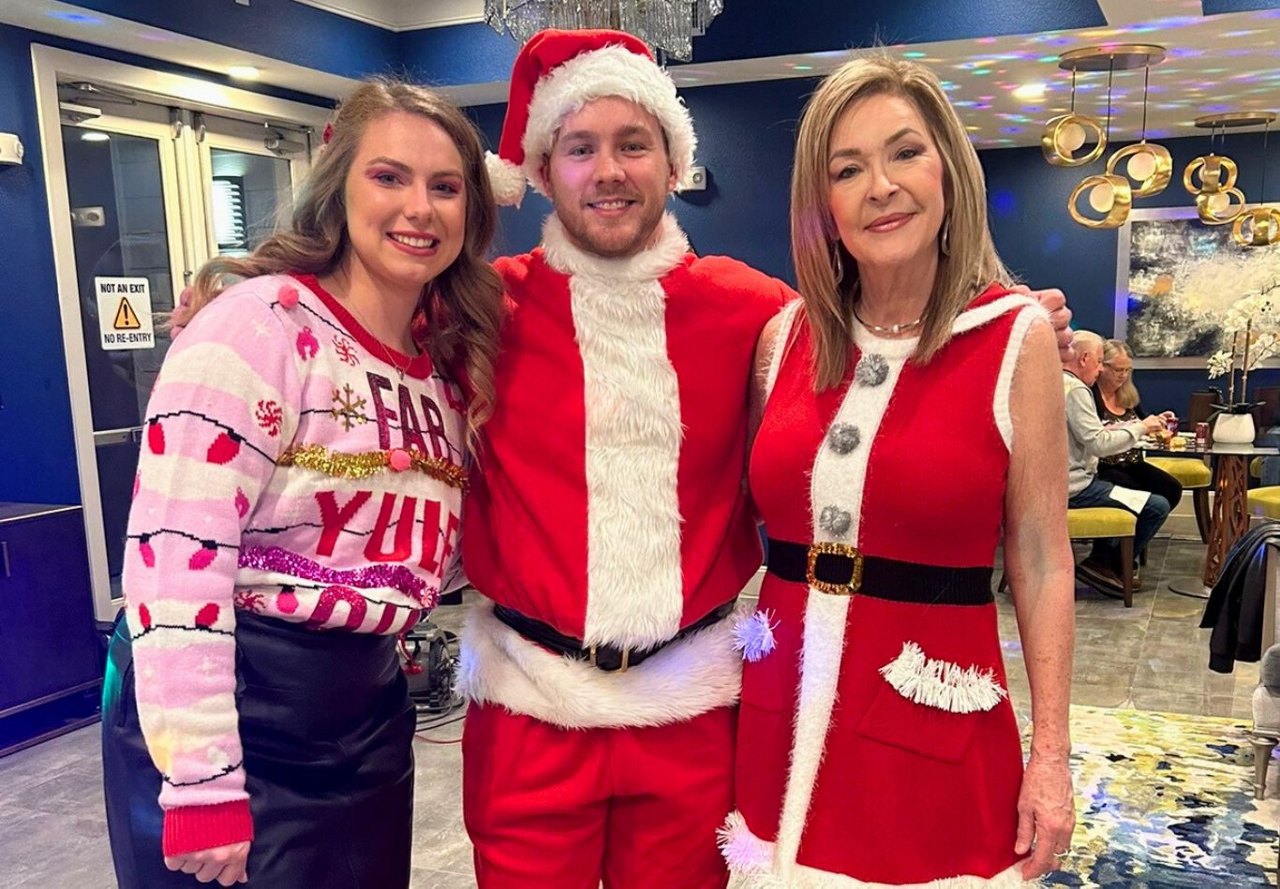
{"label": "double glass doors with NOT AN EXIT sign, without outer frame", "polygon": [[165,317],[205,261],[247,256],[285,217],[310,146],[301,130],[145,102],[119,115],[67,115],[61,142],[116,599],[142,421],[170,344]]}

